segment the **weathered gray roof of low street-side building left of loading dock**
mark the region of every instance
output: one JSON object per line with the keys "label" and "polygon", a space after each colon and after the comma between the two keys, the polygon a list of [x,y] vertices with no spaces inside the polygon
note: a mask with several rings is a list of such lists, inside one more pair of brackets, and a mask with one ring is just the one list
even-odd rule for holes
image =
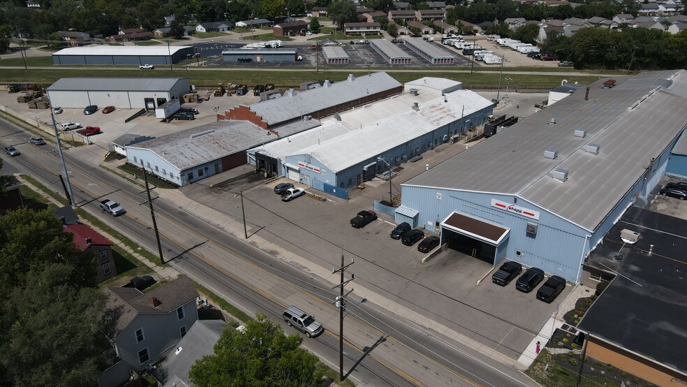
{"label": "weathered gray roof of low street-side building left of loading dock", "polygon": [[[205,131],[208,133],[200,135]],[[129,148],[150,149],[179,170],[185,170],[278,138],[268,133],[248,121],[220,121],[161,136]]]}

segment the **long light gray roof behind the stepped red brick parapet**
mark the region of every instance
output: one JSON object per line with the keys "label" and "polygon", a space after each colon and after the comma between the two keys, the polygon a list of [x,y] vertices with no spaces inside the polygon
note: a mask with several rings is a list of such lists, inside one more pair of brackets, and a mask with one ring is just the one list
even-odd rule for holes
{"label": "long light gray roof behind the stepped red brick parapet", "polygon": [[401,84],[387,73],[371,73],[353,81],[335,82],[330,87],[309,89],[296,93],[295,96],[253,103],[250,108],[263,117],[267,124],[273,125],[399,86]]}

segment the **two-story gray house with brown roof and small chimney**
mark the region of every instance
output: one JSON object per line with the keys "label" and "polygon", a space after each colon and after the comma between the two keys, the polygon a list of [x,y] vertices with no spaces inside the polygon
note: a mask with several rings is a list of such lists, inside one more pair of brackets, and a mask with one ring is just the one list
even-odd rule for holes
{"label": "two-story gray house with brown roof and small chimney", "polygon": [[198,320],[198,291],[185,275],[145,294],[110,286],[105,295],[108,318],[116,322],[108,339],[117,356],[137,372],[175,349]]}

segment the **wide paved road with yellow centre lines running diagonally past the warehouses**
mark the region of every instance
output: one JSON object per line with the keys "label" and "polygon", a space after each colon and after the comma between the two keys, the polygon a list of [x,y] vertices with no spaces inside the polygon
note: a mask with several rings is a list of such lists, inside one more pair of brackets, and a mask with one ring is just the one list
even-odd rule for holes
{"label": "wide paved road with yellow centre lines running diagonally past the warehouses", "polygon": [[[3,143],[15,144],[22,152],[22,156],[6,159],[6,164],[60,191],[59,166],[52,145],[32,147],[25,143],[29,136],[4,122],[0,124]],[[140,187],[95,166],[97,161],[88,155],[91,149],[81,147],[66,152],[77,205],[150,251],[156,251],[147,207],[139,205],[144,200]],[[75,152],[80,154],[75,156]],[[155,200],[156,214],[163,251],[168,260],[172,259],[171,265],[188,272],[249,314],[262,311],[279,319],[280,309],[290,304],[309,310],[323,322],[327,333],[318,339],[306,339],[304,346],[337,369],[338,311],[331,303],[335,295],[331,280],[323,281],[308,270],[283,263],[230,237],[221,229],[225,224],[207,224],[195,217],[193,207],[175,203],[174,192],[177,191],[155,191],[161,195]],[[103,196],[119,201],[128,213],[117,218],[101,214],[95,201]],[[378,305],[352,298],[349,310],[344,331],[349,344],[344,368],[355,367],[350,378],[357,384],[533,385],[517,370],[461,348],[450,338],[389,314]],[[366,348],[374,349],[362,356]]]}

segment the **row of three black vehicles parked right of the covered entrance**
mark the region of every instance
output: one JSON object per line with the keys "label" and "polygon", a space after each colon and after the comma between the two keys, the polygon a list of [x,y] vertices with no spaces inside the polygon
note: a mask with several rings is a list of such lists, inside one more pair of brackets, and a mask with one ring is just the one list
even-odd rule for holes
{"label": "row of three black vehicles parked right of the covered entrance", "polygon": [[[517,282],[515,282],[515,289],[524,293],[529,293],[537,287],[540,282],[544,280],[544,270],[540,268],[529,268],[524,274],[522,273],[522,265],[508,261],[501,265],[492,275],[492,282],[497,285],[507,286],[518,275]],[[566,280],[557,275],[552,275],[537,291],[537,300],[542,300],[547,303],[553,302],[558,297],[563,289],[566,289]]]}

